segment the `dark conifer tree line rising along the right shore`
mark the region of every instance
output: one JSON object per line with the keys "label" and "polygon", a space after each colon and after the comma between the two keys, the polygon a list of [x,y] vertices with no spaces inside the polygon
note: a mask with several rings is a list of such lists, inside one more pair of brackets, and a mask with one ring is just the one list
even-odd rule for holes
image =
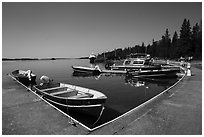
{"label": "dark conifer tree line rising along the right shore", "polygon": [[[193,57],[202,59],[202,23],[196,23],[191,27],[190,21],[184,19],[179,34],[175,31],[171,38],[166,29],[161,40],[152,41],[152,44],[135,45],[124,49],[118,48],[109,52],[98,54],[98,60],[125,59],[127,55],[134,53],[147,53],[152,57],[163,59],[178,59],[180,57]],[[105,57],[105,58],[104,58]]]}

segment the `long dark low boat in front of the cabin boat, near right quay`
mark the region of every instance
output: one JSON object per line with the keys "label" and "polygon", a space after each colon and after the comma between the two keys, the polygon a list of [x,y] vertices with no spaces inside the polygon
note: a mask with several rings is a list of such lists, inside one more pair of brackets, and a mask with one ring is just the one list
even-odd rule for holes
{"label": "long dark low boat in front of the cabin boat, near right quay", "polygon": [[177,77],[177,69],[143,70],[128,72],[134,77]]}

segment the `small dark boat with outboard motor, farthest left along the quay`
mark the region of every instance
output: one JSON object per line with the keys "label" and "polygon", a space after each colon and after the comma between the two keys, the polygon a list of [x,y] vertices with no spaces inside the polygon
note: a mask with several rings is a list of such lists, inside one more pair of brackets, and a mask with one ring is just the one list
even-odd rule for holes
{"label": "small dark boat with outboard motor, farthest left along the quay", "polygon": [[[32,74],[32,73],[29,74],[27,72],[28,71],[24,71],[24,70],[15,70],[15,71],[11,72],[11,75],[24,84],[35,83],[36,75]],[[28,75],[30,75],[30,77]]]}

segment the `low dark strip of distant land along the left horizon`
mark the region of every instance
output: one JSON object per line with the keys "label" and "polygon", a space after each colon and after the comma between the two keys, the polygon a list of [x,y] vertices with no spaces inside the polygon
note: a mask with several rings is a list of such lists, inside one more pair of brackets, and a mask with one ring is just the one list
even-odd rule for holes
{"label": "low dark strip of distant land along the left horizon", "polygon": [[88,59],[89,57],[79,58],[2,58],[2,61],[17,61],[17,60],[59,60],[59,59]]}

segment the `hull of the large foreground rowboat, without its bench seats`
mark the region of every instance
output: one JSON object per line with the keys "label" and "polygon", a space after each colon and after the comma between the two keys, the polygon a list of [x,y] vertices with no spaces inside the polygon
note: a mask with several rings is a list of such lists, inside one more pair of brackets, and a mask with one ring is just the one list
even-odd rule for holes
{"label": "hull of the large foreground rowboat, without its bench seats", "polygon": [[[61,97],[61,96],[54,96],[53,95],[54,92],[51,93],[51,90],[49,90],[49,93],[48,91],[45,92],[46,89],[53,89],[53,88],[58,88],[58,87],[65,88],[65,87],[61,87],[61,83],[56,83],[53,85],[49,85],[47,87],[34,86],[33,89],[37,94],[39,94],[45,100],[54,104],[55,106],[58,106],[60,108],[66,108],[66,109],[69,109],[75,112],[84,113],[87,115],[92,115],[92,116],[98,115],[97,114],[98,109],[101,108],[105,104],[105,101],[107,99],[107,97],[103,93],[100,93],[94,90],[89,90],[89,89],[82,88],[82,87],[78,87],[78,86],[75,87],[76,91],[80,89],[86,90],[90,93],[93,93],[93,94],[95,93],[94,96],[97,96],[96,94],[98,94],[98,97],[93,96],[93,97],[85,97],[85,98],[75,98],[73,97],[76,95],[74,92],[72,92],[73,94],[69,94],[68,97]],[[61,91],[58,90],[56,92],[61,92]]]}

